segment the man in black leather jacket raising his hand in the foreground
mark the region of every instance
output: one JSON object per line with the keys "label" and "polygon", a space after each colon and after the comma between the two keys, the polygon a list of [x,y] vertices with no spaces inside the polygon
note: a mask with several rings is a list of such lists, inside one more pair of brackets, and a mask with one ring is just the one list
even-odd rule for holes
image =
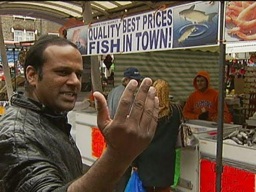
{"label": "man in black leather jacket raising his hand in the foreground", "polygon": [[158,98],[152,81],[144,79],[133,104],[138,83],[131,80],[113,120],[104,96],[94,92],[98,127],[108,146],[82,175],[66,118],[81,88],[82,57],[76,45],[44,36],[28,50],[24,71],[25,93],[12,96],[0,120],[0,191],[111,191],[154,136]]}

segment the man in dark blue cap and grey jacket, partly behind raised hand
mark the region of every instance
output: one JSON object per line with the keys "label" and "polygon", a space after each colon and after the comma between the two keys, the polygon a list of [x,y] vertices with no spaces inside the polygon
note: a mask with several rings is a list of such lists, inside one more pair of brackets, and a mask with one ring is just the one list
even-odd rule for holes
{"label": "man in dark blue cap and grey jacket, partly behind raised hand", "polygon": [[[140,79],[142,76],[140,75],[140,72],[138,69],[134,67],[129,67],[124,71],[124,77],[122,78],[122,84],[113,90],[108,94],[108,110],[110,114],[110,118],[114,119],[116,109],[119,103],[119,100],[124,92],[125,87],[128,85],[130,80],[134,79],[138,82],[138,85],[140,84]],[[119,180],[118,184],[116,185],[114,192],[124,192],[124,189],[130,179],[132,172],[132,167],[130,166],[122,178]]]}

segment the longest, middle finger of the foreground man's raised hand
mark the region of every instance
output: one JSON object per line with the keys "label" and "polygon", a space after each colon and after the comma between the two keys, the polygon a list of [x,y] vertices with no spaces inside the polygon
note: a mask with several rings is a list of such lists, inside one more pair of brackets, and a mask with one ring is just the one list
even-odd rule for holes
{"label": "longest, middle finger of the foreground man's raised hand", "polygon": [[150,88],[151,84],[152,84],[152,80],[150,78],[144,78],[144,80],[140,85],[138,93],[136,94],[136,97],[132,106],[132,110],[129,116],[129,118],[132,119],[135,123],[140,122],[140,118],[141,118],[146,97],[148,94],[148,89]]}

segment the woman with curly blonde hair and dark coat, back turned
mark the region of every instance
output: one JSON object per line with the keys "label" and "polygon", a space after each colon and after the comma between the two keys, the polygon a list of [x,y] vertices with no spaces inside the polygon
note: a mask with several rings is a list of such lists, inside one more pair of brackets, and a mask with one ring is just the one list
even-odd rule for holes
{"label": "woman with curly blonde hair and dark coat, back turned", "polygon": [[153,87],[159,99],[158,126],[151,144],[136,158],[135,163],[148,192],[170,192],[174,182],[175,144],[180,115],[178,106],[170,103],[168,82],[158,79]]}

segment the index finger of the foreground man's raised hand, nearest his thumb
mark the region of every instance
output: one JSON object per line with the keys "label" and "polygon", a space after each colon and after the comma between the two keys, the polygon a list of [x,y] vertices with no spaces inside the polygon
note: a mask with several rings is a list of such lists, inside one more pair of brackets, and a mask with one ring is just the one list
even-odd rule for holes
{"label": "index finger of the foreground man's raised hand, nearest his thumb", "polygon": [[130,80],[130,82],[126,86],[120,98],[118,108],[116,110],[116,114],[114,117],[115,120],[118,120],[119,122],[124,122],[126,120],[126,116],[129,114],[130,107],[133,102],[133,95],[134,92],[136,91],[137,86],[137,81],[133,79]]}

